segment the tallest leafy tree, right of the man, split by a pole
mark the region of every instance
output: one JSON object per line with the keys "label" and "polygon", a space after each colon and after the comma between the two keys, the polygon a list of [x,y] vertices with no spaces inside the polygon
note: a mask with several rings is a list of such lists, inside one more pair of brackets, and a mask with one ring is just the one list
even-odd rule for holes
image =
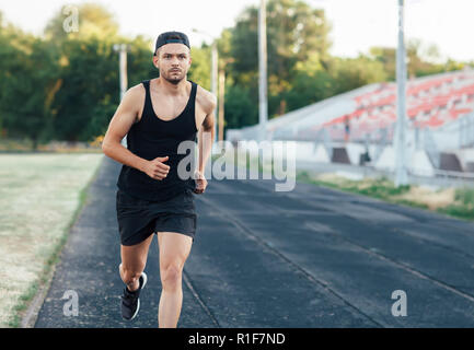
{"label": "tallest leafy tree, right of the man, split by a pole", "polygon": [[[250,86],[257,105],[258,83],[258,9],[250,7],[238,18],[231,32],[231,49],[234,58],[230,74],[236,84]],[[331,25],[324,11],[310,8],[298,0],[270,0],[267,4],[268,51],[268,114],[279,115],[288,110],[285,96],[292,89],[291,71],[297,62],[311,55],[328,60]]]}

